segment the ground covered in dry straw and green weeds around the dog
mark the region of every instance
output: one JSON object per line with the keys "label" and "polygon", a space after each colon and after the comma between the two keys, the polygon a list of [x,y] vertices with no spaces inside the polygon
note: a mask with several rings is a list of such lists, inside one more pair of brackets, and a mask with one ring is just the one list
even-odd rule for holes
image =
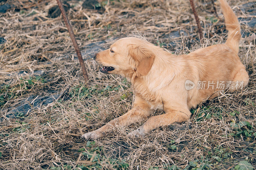
{"label": "ground covered in dry straw and green weeds around the dog", "polygon": [[243,33],[245,90],[224,91],[191,109],[187,122],[146,137],[126,137],[140,126],[132,124],[84,141],[81,134],[132,108],[131,84],[100,73],[91,54],[126,36],[144,36],[175,54],[223,43],[218,2],[195,1],[200,42],[189,1],[67,1],[90,78],[86,86],[56,1],[0,0],[0,169],[255,169],[256,1],[229,3]]}

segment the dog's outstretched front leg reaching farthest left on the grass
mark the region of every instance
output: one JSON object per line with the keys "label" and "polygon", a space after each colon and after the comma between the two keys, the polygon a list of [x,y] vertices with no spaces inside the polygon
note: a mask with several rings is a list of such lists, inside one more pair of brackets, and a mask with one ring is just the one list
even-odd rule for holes
{"label": "dog's outstretched front leg reaching farthest left on the grass", "polygon": [[84,135],[82,135],[82,138],[84,138],[85,140],[89,138],[99,138],[103,135],[105,131],[113,128],[114,126],[128,126],[135,122],[142,122],[143,120],[146,120],[150,114],[150,106],[148,105],[148,103],[139,95],[135,95],[133,108],[131,110],[129,110],[126,114],[108,122],[100,129],[85,133]]}

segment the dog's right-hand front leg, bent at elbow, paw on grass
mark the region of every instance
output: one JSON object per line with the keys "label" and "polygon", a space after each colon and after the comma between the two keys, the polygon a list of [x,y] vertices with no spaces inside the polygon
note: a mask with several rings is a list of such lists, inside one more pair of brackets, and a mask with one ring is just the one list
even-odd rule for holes
{"label": "dog's right-hand front leg, bent at elbow, paw on grass", "polygon": [[174,122],[183,122],[190,118],[190,111],[188,109],[166,109],[165,114],[150,117],[147,122],[141,125],[138,129],[133,130],[128,136],[145,136],[151,130],[160,126],[168,126]]}

